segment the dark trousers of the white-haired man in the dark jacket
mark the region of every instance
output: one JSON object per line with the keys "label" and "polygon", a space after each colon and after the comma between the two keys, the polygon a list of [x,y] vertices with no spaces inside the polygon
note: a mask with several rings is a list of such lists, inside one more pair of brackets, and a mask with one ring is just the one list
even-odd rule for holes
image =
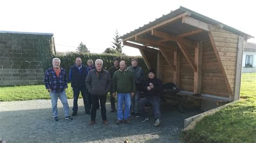
{"label": "dark trousers of the white-haired man in the dark jacket", "polygon": [[104,96],[91,95],[91,102],[92,102],[91,120],[95,121],[95,118],[96,118],[97,101],[99,101],[100,103],[102,120],[106,120],[106,95]]}

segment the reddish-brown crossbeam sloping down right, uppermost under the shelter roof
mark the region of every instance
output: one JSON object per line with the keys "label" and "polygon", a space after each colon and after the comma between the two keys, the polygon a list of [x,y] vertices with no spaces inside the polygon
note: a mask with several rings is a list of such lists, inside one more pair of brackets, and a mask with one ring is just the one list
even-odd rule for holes
{"label": "reddish-brown crossbeam sloping down right, uppermost under the shelter roof", "polygon": [[169,33],[161,32],[161,31],[156,30],[156,29],[153,29],[151,34],[155,35],[157,37],[160,37],[160,38],[164,38],[166,40],[170,40],[170,41],[174,41],[174,42],[180,42],[180,43],[186,44],[188,46],[197,47],[197,42],[187,40],[187,39],[184,39],[184,38],[181,38],[181,37],[177,37],[177,36],[169,34]]}

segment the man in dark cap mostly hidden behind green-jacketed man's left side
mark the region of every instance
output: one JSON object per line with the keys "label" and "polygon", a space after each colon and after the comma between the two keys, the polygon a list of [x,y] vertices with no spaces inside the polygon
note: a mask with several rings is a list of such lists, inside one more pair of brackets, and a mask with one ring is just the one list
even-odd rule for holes
{"label": "man in dark cap mostly hidden behind green-jacketed man's left side", "polygon": [[[119,69],[119,60],[118,60],[118,58],[114,58],[113,63],[114,63],[114,66],[109,68],[109,73],[111,75],[111,78],[113,78],[114,72],[116,72]],[[114,97],[111,96],[111,95],[112,95],[112,92],[110,92],[111,112],[115,112],[116,111],[116,105],[114,103]]]}

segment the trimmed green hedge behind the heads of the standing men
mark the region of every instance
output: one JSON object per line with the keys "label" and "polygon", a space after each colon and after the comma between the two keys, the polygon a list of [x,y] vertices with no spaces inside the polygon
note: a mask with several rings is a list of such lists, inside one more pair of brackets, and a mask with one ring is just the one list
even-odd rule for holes
{"label": "trimmed green hedge behind the heads of the standing men", "polygon": [[67,54],[59,54],[55,56],[59,58],[61,63],[60,67],[64,68],[69,73],[69,68],[75,64],[75,60],[77,57],[80,57],[83,61],[83,64],[87,66],[87,60],[92,59],[95,62],[96,59],[103,60],[103,68],[109,70],[110,67],[113,66],[113,59],[118,58],[120,61],[124,60],[126,62],[127,67],[131,66],[131,59],[137,58],[139,62],[139,66],[144,69],[144,73],[147,72],[147,66],[142,58],[142,56],[126,56],[126,55],[114,55],[114,54],[95,54],[95,53],[78,53],[78,52],[70,52]]}

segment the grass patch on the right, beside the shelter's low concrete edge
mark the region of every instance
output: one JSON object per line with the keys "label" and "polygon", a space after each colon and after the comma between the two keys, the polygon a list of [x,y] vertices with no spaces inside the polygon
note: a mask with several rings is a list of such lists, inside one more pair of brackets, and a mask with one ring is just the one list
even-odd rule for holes
{"label": "grass patch on the right, beside the shelter's low concrete edge", "polygon": [[186,142],[256,142],[256,73],[242,74],[240,93],[241,101],[206,116],[182,138]]}

